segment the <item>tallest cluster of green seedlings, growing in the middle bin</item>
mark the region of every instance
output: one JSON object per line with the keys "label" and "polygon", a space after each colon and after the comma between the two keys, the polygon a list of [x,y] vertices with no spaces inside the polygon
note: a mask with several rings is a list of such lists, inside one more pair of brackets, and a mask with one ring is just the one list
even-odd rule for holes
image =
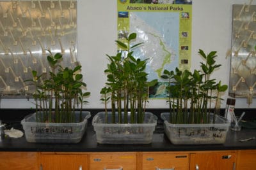
{"label": "tallest cluster of green seedlings, growing in the middle bin", "polygon": [[[125,36],[127,41],[116,41],[117,45],[122,48],[123,52],[127,52],[127,56],[122,56],[122,52],[118,52],[115,56],[108,56],[108,68],[104,71],[107,74],[106,87],[102,88],[101,101],[105,103],[106,122],[108,122],[107,103],[111,101],[111,122],[119,124],[128,123],[128,111],[131,112],[130,123],[143,123],[146,102],[148,99],[148,88],[155,85],[157,80],[147,81],[147,73],[145,67],[146,60],[136,59],[133,56],[133,49],[142,45],[137,43],[131,45],[136,39],[136,33]],[[124,111],[124,117],[122,112]],[[115,115],[118,114],[118,120]]]}

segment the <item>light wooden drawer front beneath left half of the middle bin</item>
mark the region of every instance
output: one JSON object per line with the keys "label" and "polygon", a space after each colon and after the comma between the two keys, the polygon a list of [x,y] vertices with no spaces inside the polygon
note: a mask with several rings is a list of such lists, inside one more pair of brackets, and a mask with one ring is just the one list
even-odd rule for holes
{"label": "light wooden drawer front beneath left half of the middle bin", "polygon": [[90,170],[136,170],[137,153],[90,153]]}

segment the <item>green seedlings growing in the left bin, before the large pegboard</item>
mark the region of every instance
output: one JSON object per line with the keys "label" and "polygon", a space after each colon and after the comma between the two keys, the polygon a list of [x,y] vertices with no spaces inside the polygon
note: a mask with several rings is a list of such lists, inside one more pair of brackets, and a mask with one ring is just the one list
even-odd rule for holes
{"label": "green seedlings growing in the left bin, before the large pegboard", "polygon": [[90,92],[83,92],[86,83],[83,82],[83,75],[79,73],[81,66],[77,64],[74,69],[62,67],[60,62],[62,54],[56,53],[47,56],[47,61],[51,67],[49,73],[38,75],[33,70],[33,79],[26,80],[32,82],[36,90],[33,94],[36,106],[37,122],[67,123],[75,122],[75,110],[79,106],[80,121],[83,104],[87,103],[85,98]]}

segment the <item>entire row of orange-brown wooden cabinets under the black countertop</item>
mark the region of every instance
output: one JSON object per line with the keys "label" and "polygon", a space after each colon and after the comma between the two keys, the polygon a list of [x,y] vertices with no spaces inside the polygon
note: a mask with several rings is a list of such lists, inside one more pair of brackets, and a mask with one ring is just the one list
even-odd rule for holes
{"label": "entire row of orange-brown wooden cabinets under the black countertop", "polygon": [[251,170],[256,150],[202,152],[0,152],[8,170]]}

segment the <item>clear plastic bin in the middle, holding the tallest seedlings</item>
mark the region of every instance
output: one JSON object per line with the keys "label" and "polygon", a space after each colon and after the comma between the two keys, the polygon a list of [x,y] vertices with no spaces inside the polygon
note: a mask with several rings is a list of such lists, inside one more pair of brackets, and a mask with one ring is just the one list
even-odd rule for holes
{"label": "clear plastic bin in the middle, holding the tallest seedlings", "polygon": [[[130,117],[130,115],[128,115],[128,117]],[[110,112],[108,113],[108,118],[111,118]],[[156,115],[149,112],[145,113],[145,120],[143,124],[106,124],[105,112],[97,113],[92,120],[97,142],[100,144],[151,143],[153,132],[156,128],[156,123]]]}

